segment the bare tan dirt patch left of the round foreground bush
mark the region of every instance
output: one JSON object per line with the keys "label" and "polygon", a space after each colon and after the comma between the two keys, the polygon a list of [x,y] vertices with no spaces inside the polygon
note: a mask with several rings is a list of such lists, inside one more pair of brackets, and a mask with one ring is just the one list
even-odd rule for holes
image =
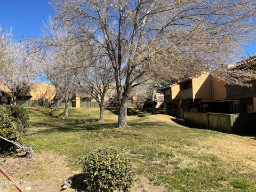
{"label": "bare tan dirt patch left of the round foreground bush", "polygon": [[66,157],[51,152],[34,154],[31,159],[17,156],[2,158],[0,165],[15,181],[26,183],[24,189],[29,186],[30,191],[36,192],[60,191],[63,181],[76,173],[68,167]]}

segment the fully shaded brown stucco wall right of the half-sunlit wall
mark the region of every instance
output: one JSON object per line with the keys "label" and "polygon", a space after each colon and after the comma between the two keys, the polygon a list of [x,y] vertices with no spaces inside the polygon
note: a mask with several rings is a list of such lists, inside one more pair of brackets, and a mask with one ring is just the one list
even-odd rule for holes
{"label": "fully shaded brown stucco wall right of the half-sunlit wall", "polygon": [[227,97],[227,90],[225,83],[213,77],[213,99],[214,101],[225,100]]}

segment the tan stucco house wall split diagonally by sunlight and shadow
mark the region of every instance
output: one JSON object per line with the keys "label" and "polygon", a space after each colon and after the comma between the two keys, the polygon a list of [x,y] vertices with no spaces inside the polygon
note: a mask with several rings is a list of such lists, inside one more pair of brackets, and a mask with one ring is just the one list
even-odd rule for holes
{"label": "tan stucco house wall split diagonally by sunlight and shadow", "polygon": [[193,98],[202,99],[202,102],[212,101],[212,81],[209,73],[202,73],[192,79]]}

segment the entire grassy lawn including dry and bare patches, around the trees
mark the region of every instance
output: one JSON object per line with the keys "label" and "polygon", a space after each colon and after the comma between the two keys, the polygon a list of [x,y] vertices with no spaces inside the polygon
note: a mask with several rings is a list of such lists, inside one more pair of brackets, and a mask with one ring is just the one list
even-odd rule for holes
{"label": "entire grassy lawn including dry and bare patches, around the trees", "polygon": [[[114,128],[114,109],[105,111],[103,123],[97,121],[98,109],[90,115],[89,109],[70,109],[68,121],[61,119],[63,110],[28,110],[25,142],[34,146],[35,156],[0,163],[13,177],[31,180],[34,191],[59,191],[63,181],[81,172],[77,159],[99,147],[115,147],[130,159],[138,178],[135,191],[256,191],[256,140],[188,129],[169,116],[140,110],[129,109],[126,129]],[[17,163],[22,167],[13,170]],[[76,190],[81,189],[69,189]]]}

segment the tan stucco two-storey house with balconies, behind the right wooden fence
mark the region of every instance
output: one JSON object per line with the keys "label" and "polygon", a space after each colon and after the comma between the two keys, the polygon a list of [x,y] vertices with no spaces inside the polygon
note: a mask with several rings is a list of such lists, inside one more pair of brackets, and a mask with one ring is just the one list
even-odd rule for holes
{"label": "tan stucco two-storey house with balconies, behind the right wooden fence", "polygon": [[225,83],[201,73],[165,87],[165,114],[183,118],[185,112],[232,113],[234,100],[226,100]]}

